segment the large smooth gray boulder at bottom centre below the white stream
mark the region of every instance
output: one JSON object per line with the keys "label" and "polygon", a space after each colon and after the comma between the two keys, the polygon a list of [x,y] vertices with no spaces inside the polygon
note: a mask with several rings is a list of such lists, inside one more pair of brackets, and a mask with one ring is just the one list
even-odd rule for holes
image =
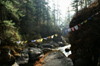
{"label": "large smooth gray boulder at bottom centre below the white stream", "polygon": [[72,60],[60,51],[49,53],[43,63],[45,63],[43,66],[73,66]]}

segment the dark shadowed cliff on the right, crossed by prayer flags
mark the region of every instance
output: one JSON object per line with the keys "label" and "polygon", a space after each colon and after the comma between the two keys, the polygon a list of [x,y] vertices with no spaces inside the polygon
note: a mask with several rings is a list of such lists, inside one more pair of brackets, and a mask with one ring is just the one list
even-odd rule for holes
{"label": "dark shadowed cliff on the right, crossed by prayer flags", "polygon": [[[98,15],[95,15],[97,12]],[[72,28],[93,15],[94,17],[79,27],[78,30],[69,32],[69,41],[71,44],[71,51],[73,53],[70,57],[75,62],[74,65],[76,66],[98,65],[99,61],[96,60],[99,59],[98,54],[100,53],[100,8],[97,0],[89,7],[79,11],[79,14],[76,14],[75,17],[73,17],[69,26]],[[92,57],[94,57],[95,60],[88,61],[91,60]],[[77,63],[77,60],[82,60],[82,63]]]}

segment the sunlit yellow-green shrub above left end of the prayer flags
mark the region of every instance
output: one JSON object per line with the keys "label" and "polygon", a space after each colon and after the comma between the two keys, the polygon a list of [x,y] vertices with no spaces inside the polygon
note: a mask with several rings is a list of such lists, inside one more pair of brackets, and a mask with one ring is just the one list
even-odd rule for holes
{"label": "sunlit yellow-green shrub above left end of the prayer flags", "polygon": [[18,34],[17,30],[14,27],[15,23],[12,23],[12,20],[5,20],[3,21],[4,25],[6,27],[6,30],[4,31],[4,34],[6,35],[5,38],[10,38],[11,40],[21,40],[21,36]]}

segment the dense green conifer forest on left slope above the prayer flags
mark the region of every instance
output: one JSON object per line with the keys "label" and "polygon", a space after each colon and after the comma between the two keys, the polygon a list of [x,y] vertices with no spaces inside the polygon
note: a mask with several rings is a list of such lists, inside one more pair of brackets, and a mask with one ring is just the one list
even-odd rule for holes
{"label": "dense green conifer forest on left slope above the prayer flags", "polygon": [[0,0],[0,6],[1,37],[32,40],[60,33],[45,0]]}

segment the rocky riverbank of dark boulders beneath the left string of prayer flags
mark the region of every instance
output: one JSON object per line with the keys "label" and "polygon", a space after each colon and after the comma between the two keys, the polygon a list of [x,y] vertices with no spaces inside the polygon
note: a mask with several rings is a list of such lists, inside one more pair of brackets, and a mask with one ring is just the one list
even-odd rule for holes
{"label": "rocky riverbank of dark boulders beneath the left string of prayer flags", "polygon": [[[66,46],[67,43],[56,41],[56,39],[44,43],[28,43],[24,47],[2,46],[0,48],[0,66],[33,66],[33,63],[43,57],[46,53],[57,47]],[[63,52],[63,51],[62,51]],[[5,59],[3,59],[5,58]],[[15,62],[15,63],[14,63]]]}

